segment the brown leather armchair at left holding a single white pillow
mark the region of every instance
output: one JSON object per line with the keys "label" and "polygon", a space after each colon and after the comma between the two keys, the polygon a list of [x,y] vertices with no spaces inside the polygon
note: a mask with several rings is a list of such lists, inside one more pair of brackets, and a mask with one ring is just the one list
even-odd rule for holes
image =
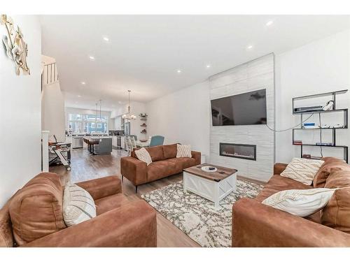
{"label": "brown leather armchair at left holding a single white pillow", "polygon": [[0,210],[0,247],[156,247],[155,210],[129,201],[116,176],[78,183],[94,198],[97,217],[66,227],[63,187],[55,173],[41,173]]}

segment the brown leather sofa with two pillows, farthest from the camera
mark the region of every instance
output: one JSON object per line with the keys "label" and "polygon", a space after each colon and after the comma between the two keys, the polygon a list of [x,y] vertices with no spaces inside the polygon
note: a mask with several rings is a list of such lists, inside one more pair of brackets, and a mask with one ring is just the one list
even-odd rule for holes
{"label": "brown leather sofa with two pillows, farthest from the camera", "polygon": [[146,150],[152,159],[152,163],[148,166],[144,161],[137,159],[134,151],[131,157],[120,159],[120,173],[134,184],[136,191],[140,184],[169,177],[169,175],[181,173],[183,168],[200,164],[200,152],[192,151],[192,157],[176,158],[176,144],[146,147]]}

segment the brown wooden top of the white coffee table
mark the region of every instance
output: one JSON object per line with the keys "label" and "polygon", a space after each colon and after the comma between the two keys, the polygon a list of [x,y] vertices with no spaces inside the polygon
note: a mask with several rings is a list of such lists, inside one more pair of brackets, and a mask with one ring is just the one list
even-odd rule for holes
{"label": "brown wooden top of the white coffee table", "polygon": [[[202,166],[214,166],[218,170],[216,172],[205,172],[201,168]],[[192,175],[198,175],[200,177],[207,178],[209,180],[214,180],[216,182],[224,180],[226,177],[233,175],[237,172],[233,168],[224,168],[223,166],[211,165],[210,163],[202,163],[197,166],[191,166],[190,168],[185,168],[183,171],[190,173]]]}

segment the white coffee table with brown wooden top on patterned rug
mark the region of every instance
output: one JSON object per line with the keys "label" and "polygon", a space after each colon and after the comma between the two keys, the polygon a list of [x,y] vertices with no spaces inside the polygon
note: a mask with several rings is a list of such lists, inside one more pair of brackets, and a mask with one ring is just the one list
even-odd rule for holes
{"label": "white coffee table with brown wooden top on patterned rug", "polygon": [[[205,172],[202,166],[214,166],[216,172]],[[237,170],[202,163],[183,169],[183,192],[191,191],[214,202],[213,208],[220,210],[219,202],[237,189]]]}

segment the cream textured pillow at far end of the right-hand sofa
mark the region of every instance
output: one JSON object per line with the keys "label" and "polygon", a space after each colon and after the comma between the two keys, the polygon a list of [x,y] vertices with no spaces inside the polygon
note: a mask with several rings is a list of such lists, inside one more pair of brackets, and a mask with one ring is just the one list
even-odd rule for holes
{"label": "cream textured pillow at far end of the right-hand sofa", "polygon": [[307,184],[308,186],[314,180],[314,177],[325,161],[315,159],[301,159],[295,157],[288,163],[288,166],[281,173],[282,177],[288,177],[292,180]]}

